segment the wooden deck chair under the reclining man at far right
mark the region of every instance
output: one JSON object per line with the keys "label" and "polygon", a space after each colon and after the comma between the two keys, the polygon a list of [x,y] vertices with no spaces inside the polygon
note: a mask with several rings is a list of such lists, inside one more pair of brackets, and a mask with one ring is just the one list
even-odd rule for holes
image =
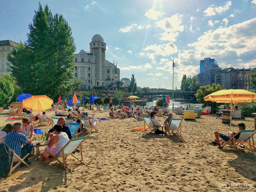
{"label": "wooden deck chair under the reclining man at far right", "polygon": [[[254,152],[252,150],[252,145],[251,145],[251,140],[250,140],[250,136],[252,135],[253,132],[254,132],[254,130],[240,130],[235,135],[233,135],[227,142],[225,142],[222,147],[224,147],[227,144],[233,145],[234,146],[234,150],[237,151],[237,147],[236,146],[241,144],[245,148],[247,148],[247,149],[251,150],[252,152]],[[237,139],[237,141],[235,141],[234,136],[236,136],[239,133],[240,133],[239,138]],[[248,139],[248,140],[245,142],[246,139]],[[233,144],[231,143],[232,141],[233,141]],[[250,148],[247,145],[249,145]]]}

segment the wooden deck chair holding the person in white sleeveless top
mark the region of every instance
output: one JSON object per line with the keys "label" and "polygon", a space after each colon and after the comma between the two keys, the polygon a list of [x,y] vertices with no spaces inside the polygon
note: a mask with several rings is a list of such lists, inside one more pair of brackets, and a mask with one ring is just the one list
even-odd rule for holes
{"label": "wooden deck chair holding the person in white sleeveless top", "polygon": [[[89,135],[86,137],[80,137],[80,138],[72,138],[69,140],[69,142],[62,147],[62,149],[57,153],[56,156],[53,156],[53,159],[49,161],[51,163],[54,160],[57,160],[61,165],[63,165],[64,168],[68,169],[69,171],[73,171],[77,168],[81,168],[82,166],[87,165],[86,163],[83,162],[83,149],[82,149],[82,143],[88,138]],[[80,153],[81,153],[81,159],[77,158],[72,152],[80,146]],[[67,164],[66,159],[67,157],[71,155],[73,156],[77,161],[72,161],[72,163]],[[75,164],[77,162],[80,162],[82,166],[77,166],[76,168],[71,169],[70,165]]]}

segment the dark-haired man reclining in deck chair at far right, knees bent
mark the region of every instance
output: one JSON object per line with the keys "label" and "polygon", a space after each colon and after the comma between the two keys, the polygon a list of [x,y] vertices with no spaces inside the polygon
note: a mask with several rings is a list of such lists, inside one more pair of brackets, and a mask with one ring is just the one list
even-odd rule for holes
{"label": "dark-haired man reclining in deck chair at far right, knees bent", "polygon": [[[245,130],[245,124],[244,123],[238,123],[238,128],[239,128],[239,130]],[[217,141],[217,145],[219,147],[221,147],[225,143],[225,141],[228,141],[235,134],[236,133],[231,132],[231,131],[229,131],[227,135],[225,135],[223,133],[220,133],[218,131],[214,132],[214,135],[215,135],[215,138],[216,138],[216,141]],[[238,133],[236,136],[234,136],[235,142],[236,142],[236,139],[239,138],[239,136],[240,136],[240,133]],[[224,141],[219,142],[219,138],[222,138]],[[247,141],[247,140],[245,140],[245,141]],[[231,143],[234,144],[233,140],[231,141]],[[210,144],[211,144],[211,142],[210,142]]]}

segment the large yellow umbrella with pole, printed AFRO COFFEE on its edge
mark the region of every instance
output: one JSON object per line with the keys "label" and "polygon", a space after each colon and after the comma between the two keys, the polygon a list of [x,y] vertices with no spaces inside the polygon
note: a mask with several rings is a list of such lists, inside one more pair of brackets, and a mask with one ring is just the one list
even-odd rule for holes
{"label": "large yellow umbrella with pole, printed AFRO COFFEE on its edge", "polygon": [[251,102],[252,100],[256,101],[256,93],[247,91],[244,89],[223,89],[211,93],[203,98],[204,101],[212,101],[216,103],[231,103],[230,107],[230,128],[231,128],[231,119],[232,119],[232,103],[245,103]]}

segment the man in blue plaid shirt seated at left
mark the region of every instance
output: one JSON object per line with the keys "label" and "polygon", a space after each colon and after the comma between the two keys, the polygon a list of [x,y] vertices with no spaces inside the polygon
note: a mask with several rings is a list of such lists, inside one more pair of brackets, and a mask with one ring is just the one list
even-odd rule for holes
{"label": "man in blue plaid shirt seated at left", "polygon": [[[31,153],[33,149],[33,137],[34,134],[31,135],[30,139],[26,137],[25,134],[20,133],[22,130],[22,124],[21,123],[14,123],[13,125],[13,132],[6,134],[4,143],[8,145],[12,150],[15,151],[15,153],[20,157],[23,158],[26,156],[27,153]],[[22,144],[24,144],[23,147]],[[29,156],[28,156],[29,157]],[[31,162],[28,161],[28,157],[25,158],[25,162],[27,164],[31,164]],[[21,167],[24,167],[25,164],[20,164]]]}

